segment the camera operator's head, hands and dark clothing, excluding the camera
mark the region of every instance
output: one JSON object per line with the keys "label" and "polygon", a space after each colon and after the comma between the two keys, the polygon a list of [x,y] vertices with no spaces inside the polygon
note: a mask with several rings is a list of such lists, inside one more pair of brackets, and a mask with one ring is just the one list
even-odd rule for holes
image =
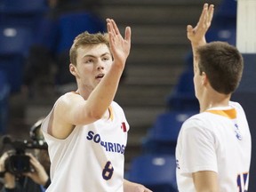
{"label": "camera operator's head, hands and dark clothing, excluding the camera", "polygon": [[[44,148],[33,149],[34,155],[26,154],[30,157],[31,172],[23,172],[21,174],[20,172],[19,174],[12,172],[15,169],[9,167],[11,164],[7,165],[6,162],[10,161],[10,156],[16,155],[17,152],[14,150],[8,150],[0,157],[0,173],[1,177],[3,177],[1,192],[44,192],[50,185],[50,159],[47,145],[40,129],[42,121],[43,119],[38,120],[30,129],[30,139],[33,140],[34,145]],[[20,167],[21,169],[23,168]]]}

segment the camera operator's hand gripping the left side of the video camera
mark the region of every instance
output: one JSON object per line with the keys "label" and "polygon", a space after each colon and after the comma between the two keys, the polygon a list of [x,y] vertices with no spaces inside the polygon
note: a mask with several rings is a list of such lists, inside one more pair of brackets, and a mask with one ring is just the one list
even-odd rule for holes
{"label": "camera operator's hand gripping the left side of the video camera", "polygon": [[15,176],[5,170],[5,160],[8,157],[8,152],[5,152],[0,157],[0,172],[4,172],[4,188],[15,188]]}

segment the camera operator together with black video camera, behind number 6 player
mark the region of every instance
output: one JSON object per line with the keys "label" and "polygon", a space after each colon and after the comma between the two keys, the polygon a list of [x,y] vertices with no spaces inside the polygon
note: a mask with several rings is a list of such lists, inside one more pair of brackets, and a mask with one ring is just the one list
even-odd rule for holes
{"label": "camera operator together with black video camera, behind number 6 player", "polygon": [[[48,151],[44,144],[42,147],[40,147],[41,144],[38,144],[44,140],[40,125],[41,120],[30,129],[32,142],[12,141],[9,138],[4,142],[4,145],[7,143],[14,146],[15,150],[8,150],[0,157],[0,177],[3,177],[3,188],[0,192],[44,192],[50,185]],[[25,149],[21,151],[20,155],[20,148],[32,148],[34,155],[25,153]],[[14,159],[14,156],[17,159]],[[25,159],[21,158],[24,156]]]}

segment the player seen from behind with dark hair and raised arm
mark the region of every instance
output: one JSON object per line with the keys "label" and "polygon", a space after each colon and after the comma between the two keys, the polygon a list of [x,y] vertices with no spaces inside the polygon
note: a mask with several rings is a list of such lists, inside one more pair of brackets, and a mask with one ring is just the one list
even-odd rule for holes
{"label": "player seen from behind with dark hair and raised arm", "polygon": [[206,44],[213,9],[212,4],[204,4],[196,27],[187,28],[200,113],[180,130],[176,147],[180,192],[248,190],[251,134],[243,108],[230,101],[244,63],[236,47],[221,42]]}

